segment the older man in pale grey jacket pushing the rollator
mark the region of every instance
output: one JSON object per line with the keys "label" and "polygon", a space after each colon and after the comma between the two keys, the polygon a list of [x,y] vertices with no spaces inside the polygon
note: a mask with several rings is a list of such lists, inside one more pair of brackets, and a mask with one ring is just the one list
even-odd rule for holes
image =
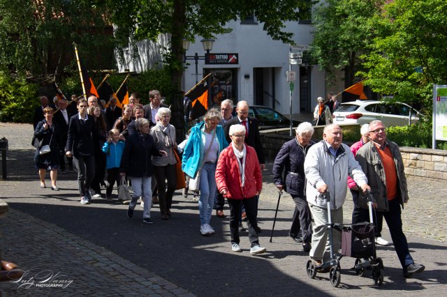
{"label": "older man in pale grey jacket pushing the rollator", "polygon": [[[362,191],[369,190],[367,178],[354,158],[349,146],[342,144],[342,128],[331,124],[323,130],[323,140],[307,152],[305,175],[307,203],[314,218],[312,249],[309,253],[317,265],[330,259],[328,242],[328,208],[321,195],[330,196],[330,215],[333,223],[343,223],[343,204],[346,199],[346,181],[350,175]],[[332,229],[332,243],[338,251],[342,243],[340,231]]]}

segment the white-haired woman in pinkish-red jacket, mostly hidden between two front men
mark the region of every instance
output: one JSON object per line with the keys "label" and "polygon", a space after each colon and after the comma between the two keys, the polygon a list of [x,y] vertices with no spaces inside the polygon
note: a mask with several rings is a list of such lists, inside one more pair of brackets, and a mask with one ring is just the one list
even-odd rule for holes
{"label": "white-haired woman in pinkish-red jacket, mostly hidden between two front men", "polygon": [[[351,151],[354,154],[354,157],[357,155],[357,151],[365,145],[367,142],[369,142],[368,138],[369,134],[369,124],[363,124],[362,127],[360,127],[360,135],[362,135],[362,138],[353,144],[351,146]],[[348,187],[351,191],[352,200],[354,202],[354,209],[352,211],[352,223],[357,224],[359,222],[369,222],[369,212],[367,209],[361,208],[360,204],[358,203],[358,199],[360,197],[360,192],[358,190],[358,186],[356,182],[348,176]],[[374,216],[375,217],[375,216]],[[383,217],[381,217],[381,220],[379,222],[376,222],[374,220],[374,231],[376,234],[376,243],[378,245],[390,245],[390,243],[382,237],[381,231],[382,231],[382,224],[383,224]]]}

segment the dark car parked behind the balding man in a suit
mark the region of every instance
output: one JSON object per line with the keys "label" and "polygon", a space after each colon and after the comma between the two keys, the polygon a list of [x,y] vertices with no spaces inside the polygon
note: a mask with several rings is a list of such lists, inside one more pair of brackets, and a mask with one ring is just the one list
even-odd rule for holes
{"label": "dark car parked behind the balding man in a suit", "polygon": [[[249,107],[249,116],[254,116],[258,119],[259,129],[268,130],[275,128],[288,128],[291,122],[286,116],[283,116],[276,110],[262,106],[262,105],[252,105]],[[300,121],[293,121],[293,128],[299,125]]]}

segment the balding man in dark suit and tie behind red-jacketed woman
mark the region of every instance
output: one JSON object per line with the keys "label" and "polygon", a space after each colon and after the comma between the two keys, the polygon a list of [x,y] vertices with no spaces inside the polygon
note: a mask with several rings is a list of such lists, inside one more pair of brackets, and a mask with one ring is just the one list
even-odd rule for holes
{"label": "balding man in dark suit and tie behind red-jacketed woman", "polygon": [[258,120],[253,116],[249,116],[249,104],[247,101],[237,102],[236,105],[236,113],[233,119],[227,121],[225,126],[223,127],[223,131],[225,132],[225,137],[228,143],[231,142],[230,135],[228,132],[230,131],[230,126],[235,124],[244,125],[245,130],[247,130],[245,134],[245,144],[254,147],[256,150],[256,154],[258,155],[259,165],[261,165],[261,170],[265,169],[265,158],[263,145],[261,144],[261,136],[259,135],[259,125]]}

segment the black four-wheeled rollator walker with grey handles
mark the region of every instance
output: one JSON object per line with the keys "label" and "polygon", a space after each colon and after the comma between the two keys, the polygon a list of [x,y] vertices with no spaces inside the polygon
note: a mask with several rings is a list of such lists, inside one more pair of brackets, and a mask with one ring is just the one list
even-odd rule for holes
{"label": "black four-wheeled rollator walker with grey handles", "polygon": [[[374,241],[374,220],[372,208],[374,198],[371,192],[367,190],[366,199],[368,200],[369,222],[358,224],[335,224],[332,223],[330,217],[330,195],[329,192],[321,195],[318,199],[324,199],[328,206],[328,230],[330,245],[330,260],[325,261],[321,265],[317,265],[316,261],[309,259],[306,265],[307,275],[315,278],[316,273],[327,273],[329,271],[329,280],[333,287],[338,287],[341,280],[340,260],[346,257],[356,258],[353,269],[357,275],[363,276],[367,269],[372,270],[372,280],[374,284],[381,285],[383,283],[383,261],[376,257],[376,243]],[[361,199],[361,197],[359,197]],[[337,229],[342,232],[342,248],[335,253],[332,230]]]}

